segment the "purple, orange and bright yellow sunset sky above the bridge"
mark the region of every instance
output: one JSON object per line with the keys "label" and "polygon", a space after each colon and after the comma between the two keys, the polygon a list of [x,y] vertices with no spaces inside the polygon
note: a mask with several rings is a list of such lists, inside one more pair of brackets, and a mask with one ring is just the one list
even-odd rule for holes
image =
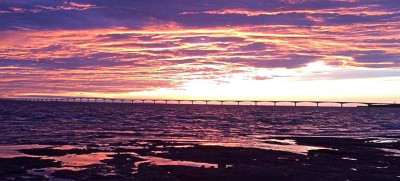
{"label": "purple, orange and bright yellow sunset sky above the bridge", "polygon": [[400,102],[400,2],[0,0],[0,96]]}

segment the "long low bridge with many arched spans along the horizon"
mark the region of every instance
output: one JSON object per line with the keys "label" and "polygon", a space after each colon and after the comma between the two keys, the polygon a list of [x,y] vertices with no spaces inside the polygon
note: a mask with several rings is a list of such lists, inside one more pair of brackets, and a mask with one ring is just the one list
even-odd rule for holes
{"label": "long low bridge with many arched spans along the horizon", "polygon": [[[353,104],[359,106],[374,106],[374,105],[388,105],[390,103],[373,103],[373,102],[351,102],[351,101],[287,101],[287,100],[178,100],[178,99],[115,99],[115,98],[94,98],[94,97],[33,97],[33,98],[0,98],[0,100],[13,100],[13,101],[41,101],[41,102],[92,102],[92,103],[130,103],[130,104],[204,104],[204,105],[261,105],[269,103],[271,106],[281,106],[285,103],[298,106],[301,103],[313,104],[319,107],[321,104],[337,104],[344,107],[345,104]],[[263,106],[264,106],[263,105]]]}

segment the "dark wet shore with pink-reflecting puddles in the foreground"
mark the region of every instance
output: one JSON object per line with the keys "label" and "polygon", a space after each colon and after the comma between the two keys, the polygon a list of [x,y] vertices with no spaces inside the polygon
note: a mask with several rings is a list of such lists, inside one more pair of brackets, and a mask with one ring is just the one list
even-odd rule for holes
{"label": "dark wet shore with pink-reflecting puddles in the foreground", "polygon": [[268,137],[265,140],[293,149],[302,146],[318,149],[299,153],[160,140],[104,145],[91,142],[1,145],[0,180],[400,179],[400,137]]}

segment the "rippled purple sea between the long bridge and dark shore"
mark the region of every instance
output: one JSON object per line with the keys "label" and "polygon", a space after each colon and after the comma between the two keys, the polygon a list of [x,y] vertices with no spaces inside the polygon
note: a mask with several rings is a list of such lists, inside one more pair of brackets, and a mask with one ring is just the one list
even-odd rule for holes
{"label": "rippled purple sea between the long bridge and dark shore", "polygon": [[257,145],[269,136],[400,135],[390,108],[3,102],[0,144],[158,139]]}

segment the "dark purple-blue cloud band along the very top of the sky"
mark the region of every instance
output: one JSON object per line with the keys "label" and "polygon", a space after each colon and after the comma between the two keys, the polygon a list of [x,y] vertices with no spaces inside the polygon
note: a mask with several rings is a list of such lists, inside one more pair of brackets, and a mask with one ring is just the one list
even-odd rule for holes
{"label": "dark purple-blue cloud band along the very top of the sky", "polygon": [[[354,24],[366,22],[398,21],[398,10],[394,1],[256,1],[232,3],[218,0],[209,6],[208,1],[128,1],[115,3],[103,1],[30,1],[3,2],[0,10],[2,29],[23,27],[30,29],[81,29],[99,27],[140,28],[151,21],[175,22],[181,26],[213,27],[243,25],[296,25],[312,26],[316,22],[309,14],[317,11],[325,24]],[[354,8],[362,9],[359,14]],[[335,9],[338,9],[337,13]],[[234,11],[225,11],[225,10]],[[235,13],[235,9],[242,9]],[[245,11],[243,11],[245,10]],[[332,11],[333,10],[333,11]],[[356,9],[357,10],[357,9]],[[370,11],[386,14],[369,15]],[[218,12],[221,13],[210,13]],[[189,13],[188,13],[189,12]],[[225,13],[222,13],[225,12]],[[231,12],[231,13],[226,13]],[[248,12],[241,14],[239,12]],[[252,12],[258,15],[248,16]],[[265,13],[262,13],[265,12]],[[268,13],[269,12],[269,13]],[[278,13],[272,13],[278,12]],[[281,13],[279,13],[281,12]],[[397,13],[393,13],[397,12]]]}

